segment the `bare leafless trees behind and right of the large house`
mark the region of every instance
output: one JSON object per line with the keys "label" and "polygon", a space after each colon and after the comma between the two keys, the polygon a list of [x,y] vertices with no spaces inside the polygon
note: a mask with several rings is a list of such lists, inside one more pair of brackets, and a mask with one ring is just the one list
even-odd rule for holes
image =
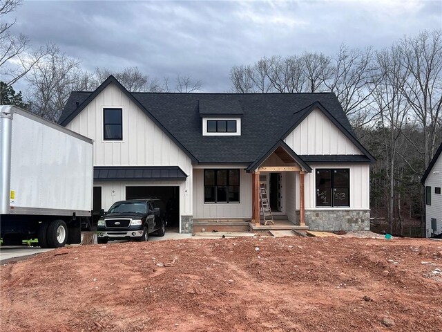
{"label": "bare leafless trees behind and right of the large house", "polygon": [[233,66],[230,79],[237,93],[335,93],[377,159],[371,208],[387,208],[395,234],[403,234],[404,215],[423,220],[420,178],[442,140],[441,30],[403,37],[383,50],[342,45],[334,56],[262,57]]}

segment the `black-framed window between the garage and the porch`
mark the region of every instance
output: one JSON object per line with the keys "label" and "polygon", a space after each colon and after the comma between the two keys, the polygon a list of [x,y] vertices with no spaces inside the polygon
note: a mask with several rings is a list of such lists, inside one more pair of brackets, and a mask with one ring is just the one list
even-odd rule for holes
{"label": "black-framed window between the garage and the porch", "polygon": [[204,169],[204,203],[240,203],[240,170]]}

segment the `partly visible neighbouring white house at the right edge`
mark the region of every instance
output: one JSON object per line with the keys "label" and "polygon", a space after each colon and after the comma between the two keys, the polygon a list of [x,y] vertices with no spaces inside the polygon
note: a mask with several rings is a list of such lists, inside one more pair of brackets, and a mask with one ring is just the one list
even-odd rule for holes
{"label": "partly visible neighbouring white house at the right edge", "polygon": [[422,176],[425,186],[425,237],[442,233],[442,144]]}

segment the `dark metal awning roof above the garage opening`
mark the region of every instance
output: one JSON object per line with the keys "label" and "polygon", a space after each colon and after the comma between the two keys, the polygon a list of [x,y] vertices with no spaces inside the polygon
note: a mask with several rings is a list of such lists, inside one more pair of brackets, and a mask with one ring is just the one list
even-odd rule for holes
{"label": "dark metal awning roof above the garage opening", "polygon": [[185,181],[187,174],[178,166],[95,166],[95,181]]}

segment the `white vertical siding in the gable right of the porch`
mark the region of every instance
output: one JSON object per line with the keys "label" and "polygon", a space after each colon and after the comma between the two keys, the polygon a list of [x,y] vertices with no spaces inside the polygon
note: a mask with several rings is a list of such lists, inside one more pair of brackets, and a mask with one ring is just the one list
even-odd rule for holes
{"label": "white vertical siding in the gable right of the porch", "polygon": [[314,109],[285,138],[296,154],[363,154],[336,125]]}

